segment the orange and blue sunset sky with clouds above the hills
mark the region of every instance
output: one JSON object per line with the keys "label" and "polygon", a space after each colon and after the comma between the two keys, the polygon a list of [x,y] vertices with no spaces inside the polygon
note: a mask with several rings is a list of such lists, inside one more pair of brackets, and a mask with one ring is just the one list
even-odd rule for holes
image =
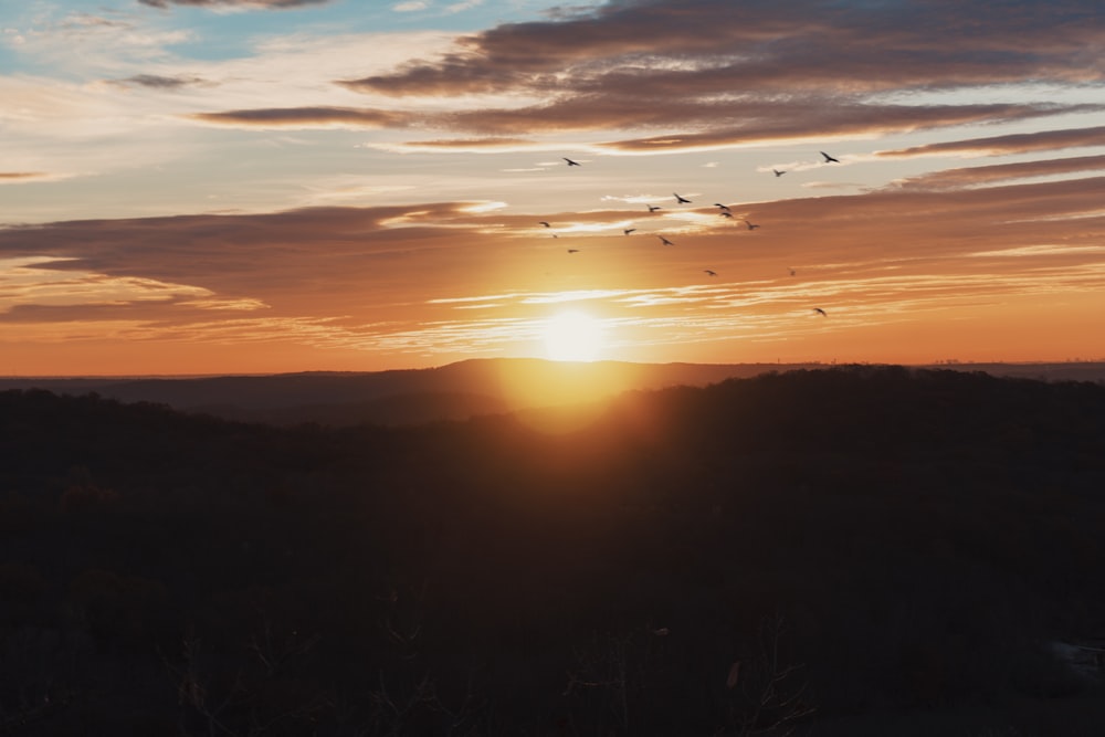
{"label": "orange and blue sunset sky with clouds above the hills", "polygon": [[0,101],[0,376],[1105,359],[1099,0],[27,0]]}

